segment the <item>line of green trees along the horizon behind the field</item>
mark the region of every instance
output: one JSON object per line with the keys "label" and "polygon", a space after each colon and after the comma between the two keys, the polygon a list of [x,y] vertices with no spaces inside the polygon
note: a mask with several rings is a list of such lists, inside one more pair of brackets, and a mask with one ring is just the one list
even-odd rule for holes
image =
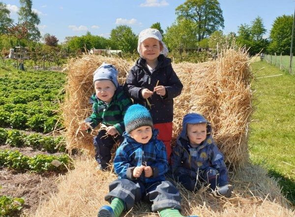
{"label": "line of green trees along the horizon behind the field", "polygon": [[[218,0],[186,0],[175,9],[175,22],[162,30],[159,22],[150,27],[158,29],[168,48],[172,52],[189,52],[193,48],[211,48],[218,46],[245,47],[250,55],[259,52],[290,54],[293,15],[277,17],[272,24],[269,37],[261,17],[249,24],[238,26],[237,32],[223,33],[224,18]],[[122,50],[124,53],[136,53],[137,35],[127,25],[114,28],[109,38],[87,32],[82,36],[68,36],[62,44],[55,35],[46,33],[43,37],[38,30],[40,19],[32,11],[31,0],[20,0],[18,23],[10,18],[10,11],[0,2],[0,49],[15,46],[27,46],[32,51],[54,51],[77,55],[91,48]],[[3,51],[2,51],[3,52]],[[44,52],[43,52],[44,53]]]}

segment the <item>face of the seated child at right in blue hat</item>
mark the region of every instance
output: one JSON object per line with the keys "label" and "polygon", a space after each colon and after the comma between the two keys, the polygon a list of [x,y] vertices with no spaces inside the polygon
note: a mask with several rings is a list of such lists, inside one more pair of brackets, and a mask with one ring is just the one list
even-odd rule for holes
{"label": "face of the seated child at right in blue hat", "polygon": [[187,137],[192,147],[200,145],[207,136],[206,123],[201,124],[187,124]]}

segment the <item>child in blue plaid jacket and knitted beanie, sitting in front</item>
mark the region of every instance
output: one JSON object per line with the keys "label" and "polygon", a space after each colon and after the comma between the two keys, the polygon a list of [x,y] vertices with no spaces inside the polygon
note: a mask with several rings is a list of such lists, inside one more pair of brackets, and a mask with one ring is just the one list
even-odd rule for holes
{"label": "child in blue plaid jacket and knitted beanie, sitting in front", "polygon": [[[180,194],[173,184],[165,180],[168,161],[165,145],[157,139],[158,130],[152,129],[152,118],[142,105],[130,106],[124,116],[124,141],[114,159],[118,179],[109,185],[98,217],[119,217],[136,202],[152,202],[151,210],[161,217],[183,217],[180,213]],[[194,216],[196,217],[196,216]]]}

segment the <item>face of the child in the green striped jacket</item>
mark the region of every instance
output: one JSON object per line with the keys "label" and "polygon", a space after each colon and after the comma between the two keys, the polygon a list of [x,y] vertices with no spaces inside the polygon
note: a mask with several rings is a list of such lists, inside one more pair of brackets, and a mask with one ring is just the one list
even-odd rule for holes
{"label": "face of the child in the green striped jacket", "polygon": [[95,81],[94,83],[96,96],[107,103],[112,101],[116,86],[110,80]]}

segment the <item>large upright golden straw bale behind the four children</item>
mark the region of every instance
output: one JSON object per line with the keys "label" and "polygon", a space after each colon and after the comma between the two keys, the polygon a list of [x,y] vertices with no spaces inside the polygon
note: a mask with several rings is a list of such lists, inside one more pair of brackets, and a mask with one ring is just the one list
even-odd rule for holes
{"label": "large upright golden straw bale behind the four children", "polygon": [[[61,106],[68,149],[82,148],[93,154],[92,138],[97,130],[87,134],[79,130],[79,123],[91,113],[88,100],[94,90],[92,73],[102,62],[117,67],[120,83],[125,81],[133,65],[122,59],[95,55],[68,63],[66,97]],[[173,67],[184,86],[175,99],[173,141],[181,130],[183,116],[188,112],[199,112],[211,122],[213,137],[226,161],[233,165],[246,162],[248,124],[252,113],[252,74],[247,54],[226,50],[216,61],[181,62]]]}

